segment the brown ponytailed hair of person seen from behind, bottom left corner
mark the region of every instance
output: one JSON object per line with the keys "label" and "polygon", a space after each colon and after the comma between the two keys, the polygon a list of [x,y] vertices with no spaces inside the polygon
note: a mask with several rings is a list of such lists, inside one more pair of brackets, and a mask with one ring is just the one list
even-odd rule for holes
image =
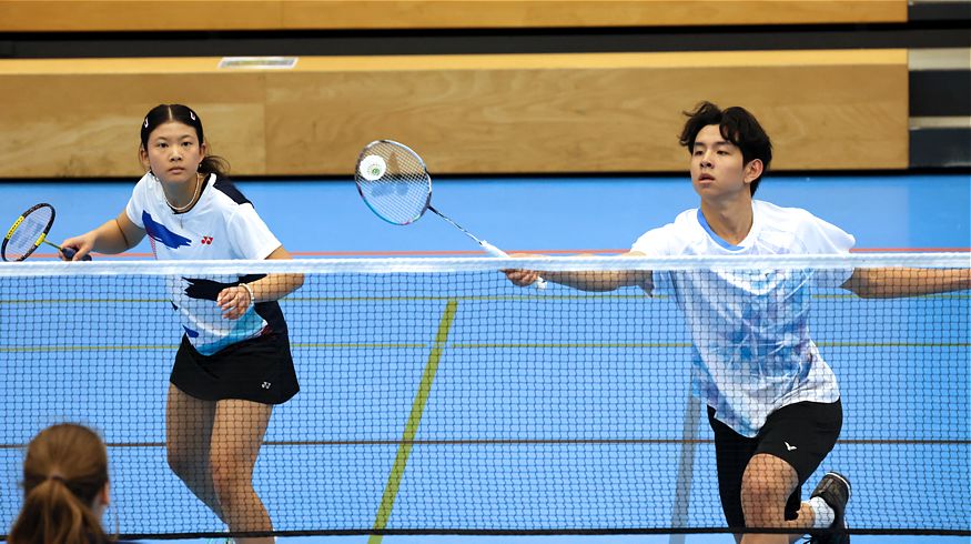
{"label": "brown ponytailed hair of person seen from behind, bottom left corner", "polygon": [[90,429],[62,423],[44,429],[23,461],[23,507],[10,544],[109,542],[91,508],[108,484],[108,451]]}

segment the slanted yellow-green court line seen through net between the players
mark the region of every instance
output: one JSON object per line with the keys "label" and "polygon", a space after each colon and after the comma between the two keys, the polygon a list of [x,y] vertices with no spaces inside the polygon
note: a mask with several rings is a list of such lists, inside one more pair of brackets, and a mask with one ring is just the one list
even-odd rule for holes
{"label": "slanted yellow-green court line seen through net between the players", "polygon": [[[397,497],[398,488],[402,483],[402,477],[405,474],[405,466],[408,463],[408,456],[412,453],[412,445],[415,441],[415,435],[418,433],[418,424],[422,422],[422,414],[425,412],[425,403],[428,401],[428,395],[432,392],[432,383],[435,381],[435,373],[438,372],[438,362],[442,360],[442,352],[448,341],[448,330],[452,328],[452,322],[455,321],[455,311],[458,308],[458,301],[449,300],[445,305],[445,313],[442,314],[442,320],[438,322],[438,332],[435,334],[435,344],[428,353],[428,362],[425,364],[425,372],[422,374],[422,383],[418,385],[418,391],[415,394],[415,401],[412,403],[412,413],[408,415],[408,421],[405,424],[405,432],[402,435],[402,442],[398,444],[397,455],[395,455],[394,465],[391,469],[391,474],[387,476],[387,485],[384,487],[384,495],[381,497],[381,505],[377,507],[377,515],[374,518],[374,531],[384,531],[387,526],[387,521],[391,518],[391,512],[394,507],[394,501]],[[383,536],[373,534],[367,540],[368,544],[381,544]]]}

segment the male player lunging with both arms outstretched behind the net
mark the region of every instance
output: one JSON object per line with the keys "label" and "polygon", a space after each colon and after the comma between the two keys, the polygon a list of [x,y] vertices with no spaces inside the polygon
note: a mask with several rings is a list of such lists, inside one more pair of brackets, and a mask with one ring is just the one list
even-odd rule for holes
{"label": "male player lunging with both arms outstretched behind the net", "polygon": [[[690,153],[698,209],[641,235],[629,256],[842,254],[854,239],[795,208],[753,200],[772,159],[768,134],[742,108],[702,102],[680,135]],[[721,506],[729,527],[792,530],[737,534],[745,544],[848,542],[849,480],[826,474],[809,501],[802,484],[832,450],[842,425],[836,376],[808,338],[809,283],[860,296],[971,289],[968,270],[691,271],[651,273],[507,271],[517,285],[542,274],[585,291],[656,286],[672,291],[694,340],[694,391],[708,404]],[[771,309],[751,303],[756,296]]]}

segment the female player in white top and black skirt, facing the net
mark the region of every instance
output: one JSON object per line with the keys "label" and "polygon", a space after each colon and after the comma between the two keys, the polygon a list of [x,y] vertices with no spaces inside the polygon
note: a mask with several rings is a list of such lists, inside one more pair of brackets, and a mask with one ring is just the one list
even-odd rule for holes
{"label": "female player in white top and black skirt, facing the net", "polygon": [[[77,252],[74,261],[91,251],[123,252],[145,234],[159,260],[291,259],[226,178],[225,161],[209,154],[190,108],[149,111],[139,158],[146,172],[127,208],[62,243]],[[300,389],[276,301],[302,284],[301,274],[169,281],[184,330],[165,412],[169,465],[232,533],[273,530],[252,474],[273,405]]]}

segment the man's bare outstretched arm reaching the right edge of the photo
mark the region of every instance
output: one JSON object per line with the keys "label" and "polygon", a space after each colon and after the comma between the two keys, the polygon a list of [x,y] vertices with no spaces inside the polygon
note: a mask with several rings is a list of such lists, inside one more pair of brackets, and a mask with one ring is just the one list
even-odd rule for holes
{"label": "man's bare outstretched arm reaching the right edge of the photo", "polygon": [[857,269],[843,284],[863,299],[892,299],[971,289],[971,269]]}

